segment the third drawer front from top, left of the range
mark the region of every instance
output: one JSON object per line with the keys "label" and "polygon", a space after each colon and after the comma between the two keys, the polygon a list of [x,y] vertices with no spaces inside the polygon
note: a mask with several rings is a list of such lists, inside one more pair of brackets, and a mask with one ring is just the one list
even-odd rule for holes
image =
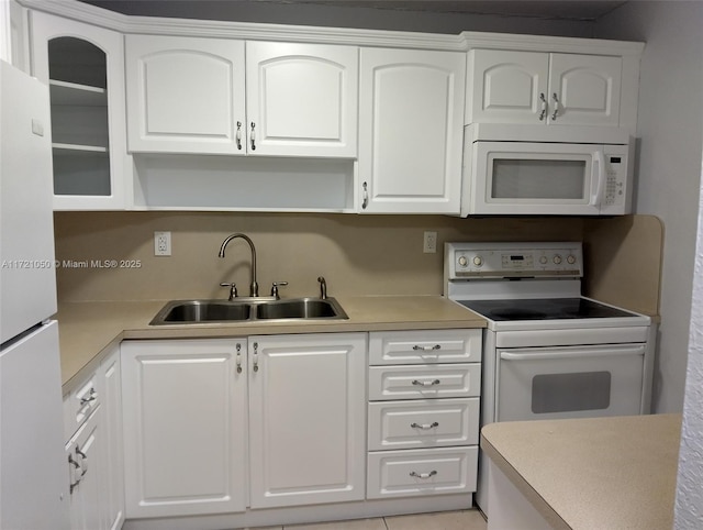
{"label": "third drawer front from top, left of the range", "polygon": [[369,404],[369,451],[472,445],[479,398]]}

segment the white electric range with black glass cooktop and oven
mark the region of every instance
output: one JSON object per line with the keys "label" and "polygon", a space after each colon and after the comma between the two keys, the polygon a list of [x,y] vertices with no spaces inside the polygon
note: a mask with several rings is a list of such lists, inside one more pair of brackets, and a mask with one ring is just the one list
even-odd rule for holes
{"label": "white electric range with black glass cooktop and oven", "polygon": [[481,426],[649,412],[651,319],[581,296],[582,277],[580,242],[445,244],[445,296],[487,320]]}

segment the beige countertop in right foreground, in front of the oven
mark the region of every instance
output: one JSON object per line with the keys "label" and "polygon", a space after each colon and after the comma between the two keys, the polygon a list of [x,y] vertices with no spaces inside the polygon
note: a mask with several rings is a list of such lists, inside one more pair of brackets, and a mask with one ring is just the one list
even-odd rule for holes
{"label": "beige countertop in right foreground, in front of the oven", "polygon": [[672,528],[681,415],[509,421],[481,449],[556,529]]}

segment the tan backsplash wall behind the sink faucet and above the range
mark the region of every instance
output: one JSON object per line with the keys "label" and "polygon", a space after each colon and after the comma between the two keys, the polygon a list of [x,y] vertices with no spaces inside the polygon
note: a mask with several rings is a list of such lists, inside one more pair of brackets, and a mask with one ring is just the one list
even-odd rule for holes
{"label": "tan backsplash wall behind the sink faucet and above the range", "polygon": [[[217,257],[221,243],[234,232],[246,233],[256,245],[261,295],[269,292],[271,281],[288,281],[281,288],[283,297],[315,296],[321,275],[331,296],[440,295],[446,241],[582,241],[592,222],[581,218],[57,212],[58,296],[60,301],[220,298],[226,296],[221,281],[235,281],[239,294],[248,295],[246,243],[234,240],[226,257]],[[422,252],[426,230],[437,232],[436,254]],[[171,232],[170,257],[154,256],[155,231]],[[600,232],[607,236],[607,230]],[[599,245],[589,244],[598,253]],[[105,268],[110,261],[116,262],[116,268]]]}

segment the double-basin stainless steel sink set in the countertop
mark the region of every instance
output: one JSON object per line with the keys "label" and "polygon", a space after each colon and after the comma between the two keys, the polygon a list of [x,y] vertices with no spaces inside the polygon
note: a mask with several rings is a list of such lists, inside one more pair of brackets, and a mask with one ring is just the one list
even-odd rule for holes
{"label": "double-basin stainless steel sink set in the countertop", "polygon": [[154,317],[150,325],[208,322],[250,322],[256,320],[348,319],[334,298],[291,298],[287,300],[246,298],[243,300],[172,300]]}

